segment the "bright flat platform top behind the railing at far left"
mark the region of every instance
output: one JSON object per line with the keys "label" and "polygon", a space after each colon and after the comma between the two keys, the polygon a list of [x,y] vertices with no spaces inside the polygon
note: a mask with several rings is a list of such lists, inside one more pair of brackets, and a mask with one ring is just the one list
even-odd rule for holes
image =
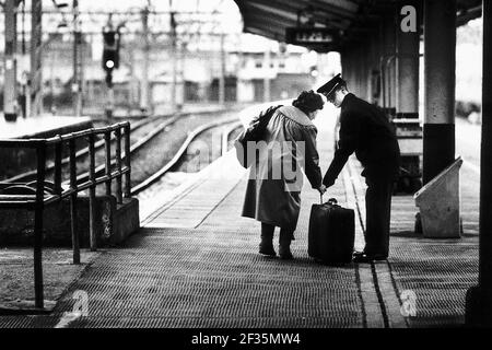
{"label": "bright flat platform top behind the railing at far left", "polygon": [[0,139],[50,138],[92,128],[89,117],[42,116],[17,118],[16,121],[0,119]]}

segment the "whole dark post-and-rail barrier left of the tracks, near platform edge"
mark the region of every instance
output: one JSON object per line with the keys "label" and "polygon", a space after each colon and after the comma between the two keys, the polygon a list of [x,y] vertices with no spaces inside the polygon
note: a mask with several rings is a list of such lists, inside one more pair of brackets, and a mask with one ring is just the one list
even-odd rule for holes
{"label": "whole dark post-and-rail barrier left of the tracks, near platform edge", "polygon": [[[116,179],[116,198],[118,203],[122,203],[124,200],[124,166],[125,166],[125,198],[131,196],[131,162],[130,162],[130,124],[121,122],[108,128],[91,129],[84,130],[82,132],[75,132],[71,135],[57,136],[55,138],[43,139],[43,140],[9,140],[3,141],[2,145],[7,144],[8,148],[16,147],[19,143],[20,148],[34,148],[36,152],[36,192],[34,201],[32,198],[20,202],[20,206],[27,208],[28,210],[34,209],[34,293],[35,293],[35,307],[43,310],[45,307],[44,302],[44,276],[43,276],[43,241],[44,241],[44,211],[45,201],[49,203],[57,203],[62,201],[65,198],[70,198],[70,217],[71,217],[71,238],[72,238],[72,249],[73,249],[73,264],[81,262],[80,254],[80,232],[78,230],[78,197],[79,191],[82,189],[89,189],[89,207],[90,207],[90,248],[91,250],[97,249],[97,235],[96,235],[96,186],[101,183],[106,185],[106,194],[112,195],[113,178]],[[112,172],[112,132],[115,132],[116,148],[115,148],[115,163],[116,172]],[[106,160],[105,160],[105,175],[104,177],[96,177],[96,166],[95,166],[95,138],[96,135],[104,135],[105,148],[106,148]],[[85,183],[87,174],[84,173],[78,179],[77,173],[77,141],[82,138],[87,137],[89,142],[89,183]],[[125,140],[121,140],[125,138]],[[14,142],[10,142],[14,141]],[[68,144],[66,144],[66,142]],[[125,142],[125,156],[122,158],[121,142]],[[46,189],[46,162],[48,156],[48,151],[51,151],[51,144],[55,151],[55,164],[54,164],[54,195],[45,197]],[[67,160],[63,160],[63,152],[67,149],[69,151],[69,167],[70,167],[70,188],[63,190],[63,173],[62,166],[65,166]],[[48,149],[49,148],[49,149]],[[82,152],[85,154],[85,152]],[[82,154],[81,153],[81,154]],[[51,166],[49,167],[51,170]],[[97,170],[97,173],[99,171]],[[82,179],[83,178],[83,179]],[[84,184],[79,185],[78,182],[84,182]],[[87,186],[89,184],[89,186]],[[50,187],[50,186],[48,186]],[[51,194],[51,192],[50,192]],[[21,199],[19,199],[21,200]]]}

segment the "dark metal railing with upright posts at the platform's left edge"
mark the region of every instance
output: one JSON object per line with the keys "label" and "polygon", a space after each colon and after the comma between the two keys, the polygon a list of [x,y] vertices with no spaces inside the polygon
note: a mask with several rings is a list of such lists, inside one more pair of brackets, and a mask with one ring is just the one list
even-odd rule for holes
{"label": "dark metal railing with upright posts at the platform's left edge", "polygon": [[[114,138],[112,135],[114,133]],[[103,136],[105,142],[105,164],[103,171],[95,164],[95,139]],[[89,172],[78,176],[77,141],[85,139],[89,143]],[[116,141],[115,158],[112,159],[112,139]],[[121,143],[125,139],[125,153]],[[54,148],[54,180],[46,179],[48,148]],[[69,156],[62,159],[68,147]],[[89,190],[90,248],[97,249],[96,242],[96,186],[104,184],[107,196],[113,194],[112,184],[116,180],[115,197],[118,203],[130,197],[130,122],[118,122],[108,127],[92,128],[49,139],[4,139],[0,140],[0,149],[34,149],[36,151],[36,180],[30,183],[0,182],[1,209],[34,210],[34,289],[35,307],[44,308],[43,284],[43,213],[47,206],[70,199],[71,241],[73,264],[80,264],[80,244],[77,228],[78,194]],[[62,182],[62,165],[69,164],[69,180]],[[116,170],[112,170],[115,165]],[[124,188],[125,178],[125,188]]]}

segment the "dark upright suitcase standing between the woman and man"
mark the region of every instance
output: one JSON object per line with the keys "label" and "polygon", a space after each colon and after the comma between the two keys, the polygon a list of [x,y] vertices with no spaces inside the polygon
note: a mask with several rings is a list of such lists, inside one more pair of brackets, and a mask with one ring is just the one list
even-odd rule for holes
{"label": "dark upright suitcase standing between the woman and man", "polygon": [[355,213],[328,202],[311,208],[307,253],[324,264],[347,264],[352,261],[355,238]]}

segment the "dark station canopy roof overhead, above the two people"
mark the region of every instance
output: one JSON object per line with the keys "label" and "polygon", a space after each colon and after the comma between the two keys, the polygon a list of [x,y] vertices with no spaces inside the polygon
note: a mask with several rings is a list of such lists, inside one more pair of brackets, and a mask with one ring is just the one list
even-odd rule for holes
{"label": "dark station canopy roof overhead, above the two people", "polygon": [[[243,15],[244,32],[317,51],[340,50],[377,31],[382,16],[395,5],[394,0],[234,1]],[[457,25],[480,18],[481,3],[458,0]]]}

